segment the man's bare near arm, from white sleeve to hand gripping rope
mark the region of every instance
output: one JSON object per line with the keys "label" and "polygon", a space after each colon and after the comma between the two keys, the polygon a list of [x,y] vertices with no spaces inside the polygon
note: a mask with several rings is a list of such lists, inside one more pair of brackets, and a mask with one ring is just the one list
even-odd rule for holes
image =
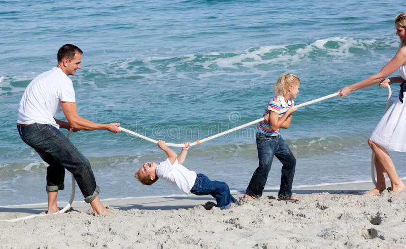
{"label": "man's bare near arm, from white sleeve to hand gripping rope", "polygon": [[62,102],[61,106],[70,127],[73,129],[78,131],[107,130],[112,133],[121,132],[121,130],[118,129],[120,127],[120,123],[95,123],[79,116],[78,108],[75,102]]}

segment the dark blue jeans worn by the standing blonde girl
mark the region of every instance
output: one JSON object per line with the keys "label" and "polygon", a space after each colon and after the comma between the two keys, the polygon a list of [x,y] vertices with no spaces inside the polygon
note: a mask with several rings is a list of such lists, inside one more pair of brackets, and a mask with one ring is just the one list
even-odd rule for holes
{"label": "dark blue jeans worn by the standing blonde girl", "polygon": [[292,151],[281,136],[268,136],[258,132],[256,139],[259,165],[247,187],[247,194],[254,198],[261,197],[275,155],[283,164],[278,197],[292,197],[292,183],[296,167],[296,158]]}

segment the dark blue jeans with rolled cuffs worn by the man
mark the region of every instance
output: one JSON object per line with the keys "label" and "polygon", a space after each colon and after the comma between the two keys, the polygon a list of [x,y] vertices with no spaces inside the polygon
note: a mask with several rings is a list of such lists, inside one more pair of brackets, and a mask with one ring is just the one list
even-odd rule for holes
{"label": "dark blue jeans with rolled cuffs worn by the man", "polygon": [[62,190],[65,169],[71,172],[87,203],[99,193],[89,160],[57,128],[41,123],[18,126],[21,139],[35,149],[49,164],[47,168],[48,192]]}

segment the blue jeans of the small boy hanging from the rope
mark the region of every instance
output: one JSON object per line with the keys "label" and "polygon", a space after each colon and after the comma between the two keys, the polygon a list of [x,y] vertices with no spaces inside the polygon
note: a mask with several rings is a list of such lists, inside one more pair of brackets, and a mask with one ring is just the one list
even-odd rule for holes
{"label": "blue jeans of the small boy hanging from the rope", "polygon": [[231,195],[227,183],[211,181],[203,174],[197,174],[196,180],[190,192],[195,195],[212,195],[214,198],[216,198],[217,206],[221,210],[229,209],[231,202],[238,204],[238,201],[236,201]]}

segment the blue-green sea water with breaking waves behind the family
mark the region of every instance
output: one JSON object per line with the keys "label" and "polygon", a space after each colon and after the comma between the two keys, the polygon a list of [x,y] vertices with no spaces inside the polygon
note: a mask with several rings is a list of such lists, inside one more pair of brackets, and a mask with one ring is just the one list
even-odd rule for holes
{"label": "blue-green sea water with breaking waves behind the family", "polygon": [[[15,123],[25,87],[56,66],[63,44],[84,51],[82,69],[71,76],[81,116],[181,143],[259,118],[284,72],[301,78],[296,104],[378,72],[397,51],[393,19],[403,5],[0,1],[0,205],[46,201],[46,164],[21,141]],[[372,87],[294,113],[282,131],[297,158],[294,186],[370,180],[366,140],[386,96]],[[152,143],[106,131],[71,139],[92,163],[102,199],[182,194],[164,181],[134,180],[143,162],[164,159]],[[391,155],[405,177],[404,154]],[[255,127],[191,148],[185,166],[244,190],[257,167]],[[279,186],[280,168],[275,160],[266,188]],[[69,199],[70,184],[66,174],[59,200]],[[79,191],[75,200],[83,200]]]}

